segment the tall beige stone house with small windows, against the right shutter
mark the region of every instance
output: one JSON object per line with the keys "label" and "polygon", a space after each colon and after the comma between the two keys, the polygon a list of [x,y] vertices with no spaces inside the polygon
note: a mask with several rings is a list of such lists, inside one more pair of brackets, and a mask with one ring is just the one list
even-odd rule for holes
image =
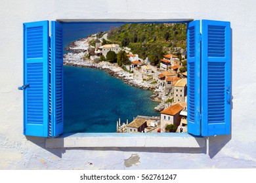
{"label": "tall beige stone house with small windows, against the right shutter", "polygon": [[185,102],[186,101],[186,78],[178,80],[174,85],[173,92],[174,98],[173,102]]}

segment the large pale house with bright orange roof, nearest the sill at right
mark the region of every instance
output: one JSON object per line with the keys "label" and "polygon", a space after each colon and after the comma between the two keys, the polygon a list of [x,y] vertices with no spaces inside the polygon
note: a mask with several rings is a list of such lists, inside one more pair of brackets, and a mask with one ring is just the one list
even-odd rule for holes
{"label": "large pale house with bright orange roof, nearest the sill at right", "polygon": [[171,105],[170,107],[162,110],[161,113],[161,132],[165,132],[165,127],[169,124],[174,124],[177,127],[180,125],[180,115],[179,112],[183,109],[180,103]]}

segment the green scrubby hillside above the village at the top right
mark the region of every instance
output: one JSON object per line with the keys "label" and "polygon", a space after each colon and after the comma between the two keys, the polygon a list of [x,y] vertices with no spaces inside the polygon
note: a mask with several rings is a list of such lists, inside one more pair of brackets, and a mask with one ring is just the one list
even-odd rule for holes
{"label": "green scrubby hillside above the village at the top right", "polygon": [[124,24],[110,29],[108,39],[131,48],[140,58],[161,59],[170,52],[186,51],[186,24]]}

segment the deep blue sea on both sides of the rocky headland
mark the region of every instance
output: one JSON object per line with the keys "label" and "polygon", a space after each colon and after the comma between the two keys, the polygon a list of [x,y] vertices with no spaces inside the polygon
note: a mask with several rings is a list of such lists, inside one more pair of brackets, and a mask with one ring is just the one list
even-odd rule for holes
{"label": "deep blue sea on both sides of the rocky headland", "polygon": [[[108,31],[114,24],[64,25],[64,44]],[[88,28],[88,29],[86,29]],[[72,29],[74,29],[73,34]],[[74,35],[75,34],[75,35]],[[105,71],[64,66],[64,133],[113,133],[119,118],[131,122],[137,115],[160,116],[150,90],[125,84]]]}

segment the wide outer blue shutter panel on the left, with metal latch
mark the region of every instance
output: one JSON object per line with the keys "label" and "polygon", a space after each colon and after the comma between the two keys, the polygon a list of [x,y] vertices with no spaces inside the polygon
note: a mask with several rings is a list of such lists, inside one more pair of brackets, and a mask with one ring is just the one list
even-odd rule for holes
{"label": "wide outer blue shutter panel on the left, with metal latch", "polygon": [[24,24],[24,135],[49,133],[49,22]]}

